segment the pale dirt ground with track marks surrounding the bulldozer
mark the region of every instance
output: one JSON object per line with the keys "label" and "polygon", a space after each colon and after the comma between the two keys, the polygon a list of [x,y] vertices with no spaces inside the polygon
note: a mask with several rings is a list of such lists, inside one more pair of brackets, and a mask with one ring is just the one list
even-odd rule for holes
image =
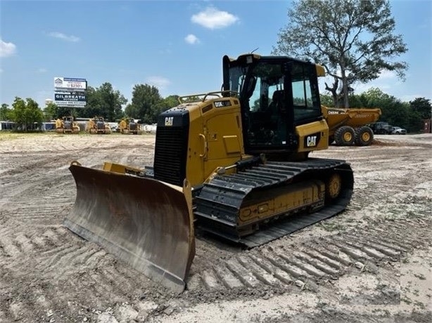
{"label": "pale dirt ground with track marks surrounding the bulldozer", "polygon": [[196,239],[173,295],[62,225],[72,160],[151,165],[154,136],[0,133],[0,322],[432,322],[432,135],[345,159],[348,209],[265,246]]}

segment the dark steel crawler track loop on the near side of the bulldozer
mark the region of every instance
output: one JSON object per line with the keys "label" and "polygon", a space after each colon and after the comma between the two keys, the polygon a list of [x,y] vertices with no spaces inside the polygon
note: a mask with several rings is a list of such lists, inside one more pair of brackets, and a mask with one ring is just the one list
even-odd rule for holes
{"label": "dark steel crawler track loop on the near side of the bulldozer", "polygon": [[[307,216],[299,214],[272,221],[267,228],[262,226],[258,232],[246,237],[236,235],[239,209],[250,192],[262,190],[265,195],[266,189],[287,185],[299,177],[319,179],[333,170],[340,171],[343,178],[341,195],[333,204]],[[215,176],[195,197],[194,213],[203,230],[252,248],[340,213],[350,202],[352,186],[352,169],[343,160],[310,158],[305,162],[267,162],[238,173]]]}

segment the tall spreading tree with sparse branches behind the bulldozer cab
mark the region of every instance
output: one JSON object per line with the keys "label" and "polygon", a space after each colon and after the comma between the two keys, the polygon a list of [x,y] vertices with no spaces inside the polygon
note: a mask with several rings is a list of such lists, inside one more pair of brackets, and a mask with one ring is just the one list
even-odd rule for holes
{"label": "tall spreading tree with sparse branches behind the bulldozer cab", "polygon": [[367,83],[384,70],[404,79],[408,65],[395,58],[407,46],[394,32],[388,0],[295,0],[272,53],[319,62],[333,77],[326,90],[334,106],[349,107],[356,82]]}

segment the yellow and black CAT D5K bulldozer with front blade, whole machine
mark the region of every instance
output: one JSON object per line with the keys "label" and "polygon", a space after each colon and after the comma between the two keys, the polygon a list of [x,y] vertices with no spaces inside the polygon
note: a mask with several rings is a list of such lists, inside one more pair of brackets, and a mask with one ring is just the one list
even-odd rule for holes
{"label": "yellow and black CAT D5K bulldozer with front blade, whole machine", "polygon": [[222,91],[180,97],[158,117],[153,166],[70,164],[77,197],[64,225],[179,293],[195,230],[253,248],[335,216],[352,195],[350,164],[309,157],[329,146],[324,68],[257,54],[222,62]]}

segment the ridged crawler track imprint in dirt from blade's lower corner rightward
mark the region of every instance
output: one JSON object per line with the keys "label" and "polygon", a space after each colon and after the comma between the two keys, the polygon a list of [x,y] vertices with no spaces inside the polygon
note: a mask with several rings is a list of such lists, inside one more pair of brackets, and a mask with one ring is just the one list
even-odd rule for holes
{"label": "ridged crawler track imprint in dirt from blade's lower corner rightward", "polygon": [[[195,272],[189,277],[188,289],[199,294],[203,290],[211,293],[263,286],[288,289],[295,285],[298,289],[314,290],[317,285],[339,279],[348,272],[375,270],[380,263],[400,261],[403,253],[419,247],[419,238],[425,237],[431,226],[421,220],[395,221],[386,225],[386,230],[376,230],[374,226],[369,230],[368,226],[361,231],[348,230],[310,239],[289,249],[271,242]],[[431,241],[424,241],[428,243]]]}

